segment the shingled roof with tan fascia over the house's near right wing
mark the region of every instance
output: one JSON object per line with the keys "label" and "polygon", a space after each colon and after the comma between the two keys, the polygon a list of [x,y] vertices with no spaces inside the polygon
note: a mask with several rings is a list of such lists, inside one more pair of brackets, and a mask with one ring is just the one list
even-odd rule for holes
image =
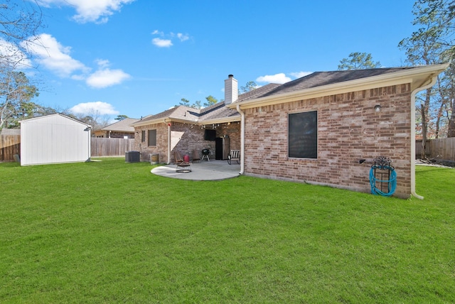
{"label": "shingled roof with tan fascia over the house's near right wing", "polygon": [[446,67],[447,64],[444,63],[417,67],[314,72],[280,85],[264,94],[256,95],[254,98],[232,103],[228,107],[234,108],[240,104],[242,109],[246,109],[247,107],[289,102],[290,99],[296,98],[309,99],[405,83],[411,83],[413,90],[424,85],[425,82],[429,82],[429,77],[438,75]]}

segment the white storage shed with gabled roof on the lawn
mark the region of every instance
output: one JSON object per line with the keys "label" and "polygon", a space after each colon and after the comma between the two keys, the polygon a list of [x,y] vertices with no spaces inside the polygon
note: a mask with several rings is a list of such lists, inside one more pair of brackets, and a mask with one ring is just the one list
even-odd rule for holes
{"label": "white storage shed with gabled roof on the lawn", "polygon": [[63,114],[20,123],[21,165],[90,161],[90,124]]}

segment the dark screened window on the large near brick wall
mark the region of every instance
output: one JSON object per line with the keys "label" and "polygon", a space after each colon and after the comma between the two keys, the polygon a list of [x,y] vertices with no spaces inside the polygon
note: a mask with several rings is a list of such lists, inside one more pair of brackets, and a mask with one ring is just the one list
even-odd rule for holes
{"label": "dark screened window on the large near brick wall", "polygon": [[318,112],[289,114],[288,156],[318,158]]}

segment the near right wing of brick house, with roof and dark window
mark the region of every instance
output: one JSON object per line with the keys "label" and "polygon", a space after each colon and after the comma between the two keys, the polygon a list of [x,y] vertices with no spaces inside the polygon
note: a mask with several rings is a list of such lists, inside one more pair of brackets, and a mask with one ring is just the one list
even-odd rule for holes
{"label": "near right wing of brick house, with roof and dark window", "polygon": [[415,193],[415,94],[448,64],[314,72],[255,99],[241,113],[241,174],[370,192],[370,164],[390,158],[395,196]]}

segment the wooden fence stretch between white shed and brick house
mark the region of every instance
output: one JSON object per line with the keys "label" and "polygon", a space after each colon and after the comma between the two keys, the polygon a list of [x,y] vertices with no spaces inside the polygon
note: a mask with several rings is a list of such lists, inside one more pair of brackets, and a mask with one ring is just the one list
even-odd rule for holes
{"label": "wooden fence stretch between white shed and brick house", "polygon": [[125,152],[134,150],[134,139],[92,138],[92,157],[125,156]]}

